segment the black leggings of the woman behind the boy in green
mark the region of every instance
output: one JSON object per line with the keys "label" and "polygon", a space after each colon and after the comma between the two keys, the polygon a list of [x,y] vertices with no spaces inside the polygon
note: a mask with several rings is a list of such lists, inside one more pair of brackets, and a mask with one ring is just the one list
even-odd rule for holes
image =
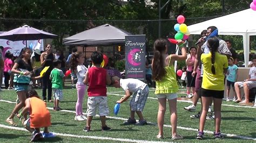
{"label": "black leggings of the woman behind the boy in green", "polygon": [[52,94],[52,89],[51,89],[51,80],[50,78],[50,73],[45,73],[43,76],[43,100],[46,100],[46,89],[48,88],[48,101],[51,100],[51,94]]}

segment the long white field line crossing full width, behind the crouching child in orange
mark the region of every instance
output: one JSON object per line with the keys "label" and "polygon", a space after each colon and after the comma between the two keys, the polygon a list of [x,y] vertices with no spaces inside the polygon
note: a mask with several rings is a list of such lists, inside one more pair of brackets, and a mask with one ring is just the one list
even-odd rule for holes
{"label": "long white field line crossing full width, behind the crouching child in orange", "polygon": [[[7,103],[16,103],[16,102],[11,102],[11,101],[5,101],[5,100],[0,100],[1,102],[7,102]],[[48,108],[50,110],[53,110],[53,108]],[[60,110],[60,112],[69,112],[69,113],[76,113],[75,111],[70,111],[70,110]],[[86,115],[86,113],[83,113],[84,115]],[[96,117],[99,117],[99,115],[96,115]],[[118,119],[118,120],[127,120],[126,118],[122,118],[122,117],[112,117],[112,116],[106,116],[106,118],[109,119]],[[138,121],[138,120],[137,120]],[[148,124],[150,125],[157,125],[156,123],[152,123],[150,121],[147,121]],[[172,127],[171,125],[164,125],[165,127]],[[188,131],[198,131],[198,129],[196,128],[190,128],[190,127],[181,127],[181,126],[177,126],[177,128],[180,128],[182,130],[188,130]],[[213,134],[212,131],[204,131],[205,133],[208,134]],[[225,133],[223,133],[225,134]],[[246,137],[246,136],[242,136],[242,135],[236,135],[236,134],[225,134],[227,137],[235,137],[235,138],[240,138],[240,139],[246,139],[246,140],[256,140],[256,138],[251,138],[251,137]]]}

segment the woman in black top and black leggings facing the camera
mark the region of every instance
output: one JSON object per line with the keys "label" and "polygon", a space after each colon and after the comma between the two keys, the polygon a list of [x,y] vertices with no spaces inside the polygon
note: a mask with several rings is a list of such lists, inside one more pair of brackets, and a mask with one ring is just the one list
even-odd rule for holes
{"label": "woman in black top and black leggings facing the camera", "polygon": [[52,53],[51,44],[47,44],[45,49],[46,49],[46,52],[43,52],[40,56],[41,66],[43,68],[49,66],[49,69],[46,71],[45,75],[43,76],[43,100],[44,102],[46,102],[46,89],[48,88],[48,102],[52,102],[51,100],[52,84],[49,78],[50,78],[51,70],[53,69],[52,62],[53,60],[55,60],[55,56]]}

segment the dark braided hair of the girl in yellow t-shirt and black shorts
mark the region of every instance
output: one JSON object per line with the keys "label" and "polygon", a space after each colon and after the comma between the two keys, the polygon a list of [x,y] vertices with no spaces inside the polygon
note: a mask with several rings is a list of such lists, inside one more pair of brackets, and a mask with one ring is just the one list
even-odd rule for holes
{"label": "dark braided hair of the girl in yellow t-shirt and black shorts", "polygon": [[210,52],[212,54],[212,74],[215,75],[215,67],[214,67],[214,62],[215,62],[215,52],[217,52],[218,50],[218,47],[219,47],[219,39],[217,37],[212,37],[212,38],[209,38],[207,40],[207,43],[208,43],[208,46],[210,48]]}

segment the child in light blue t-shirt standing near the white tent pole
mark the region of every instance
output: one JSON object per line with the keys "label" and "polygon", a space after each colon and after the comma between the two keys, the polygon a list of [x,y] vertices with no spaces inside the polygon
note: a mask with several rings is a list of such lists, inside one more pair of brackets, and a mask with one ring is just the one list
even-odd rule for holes
{"label": "child in light blue t-shirt standing near the white tent pole", "polygon": [[235,90],[234,90],[234,83],[237,81],[238,78],[238,67],[237,65],[234,65],[234,59],[230,57],[228,59],[228,69],[227,69],[227,99],[226,101],[230,101],[228,98],[230,96],[230,88],[232,85],[233,91],[234,91],[234,97],[233,102],[235,101]]}

